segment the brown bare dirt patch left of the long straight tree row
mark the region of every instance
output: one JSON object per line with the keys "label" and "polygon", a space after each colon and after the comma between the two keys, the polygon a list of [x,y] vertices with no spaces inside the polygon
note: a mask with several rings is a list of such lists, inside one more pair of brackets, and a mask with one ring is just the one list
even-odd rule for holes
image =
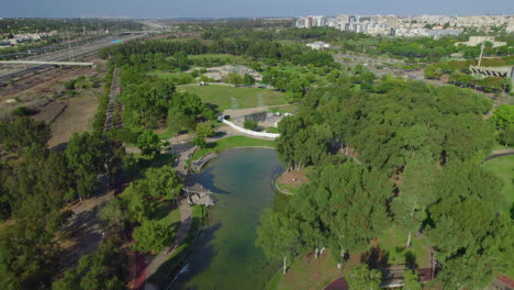
{"label": "brown bare dirt patch left of the long straight tree row", "polygon": [[64,112],[52,123],[52,138],[48,147],[68,142],[74,132],[82,133],[92,130],[93,116],[97,113],[96,93],[68,99]]}

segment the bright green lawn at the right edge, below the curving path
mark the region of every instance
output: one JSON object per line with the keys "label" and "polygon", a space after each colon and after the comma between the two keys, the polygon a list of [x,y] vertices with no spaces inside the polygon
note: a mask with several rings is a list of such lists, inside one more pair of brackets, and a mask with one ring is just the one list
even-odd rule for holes
{"label": "bright green lawn at the right edge, below the curving path", "polygon": [[503,196],[506,204],[501,207],[505,213],[514,205],[514,155],[491,159],[483,164],[483,167],[493,172],[503,181]]}

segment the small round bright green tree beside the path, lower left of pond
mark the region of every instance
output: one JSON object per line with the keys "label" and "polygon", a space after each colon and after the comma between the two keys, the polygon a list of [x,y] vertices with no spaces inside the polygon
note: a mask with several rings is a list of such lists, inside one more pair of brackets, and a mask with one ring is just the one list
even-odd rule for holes
{"label": "small round bright green tree beside the path, lower left of pond", "polygon": [[161,225],[158,221],[143,221],[142,225],[134,228],[134,250],[160,253],[171,246],[174,231],[169,226]]}

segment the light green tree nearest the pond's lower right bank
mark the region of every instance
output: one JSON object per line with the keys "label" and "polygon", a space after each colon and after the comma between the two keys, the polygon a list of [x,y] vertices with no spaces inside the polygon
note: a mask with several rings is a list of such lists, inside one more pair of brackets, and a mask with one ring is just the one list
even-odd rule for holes
{"label": "light green tree nearest the pond's lower right bank", "polygon": [[288,269],[288,261],[297,255],[299,247],[297,224],[281,212],[266,210],[257,227],[256,245],[261,247],[271,260],[282,260],[282,274]]}

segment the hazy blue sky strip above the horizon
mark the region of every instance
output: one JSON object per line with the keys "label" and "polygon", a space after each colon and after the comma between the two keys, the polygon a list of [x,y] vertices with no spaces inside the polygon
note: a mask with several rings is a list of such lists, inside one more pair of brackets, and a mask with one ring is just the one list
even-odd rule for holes
{"label": "hazy blue sky strip above the horizon", "polygon": [[0,0],[0,18],[514,14],[513,0]]}

